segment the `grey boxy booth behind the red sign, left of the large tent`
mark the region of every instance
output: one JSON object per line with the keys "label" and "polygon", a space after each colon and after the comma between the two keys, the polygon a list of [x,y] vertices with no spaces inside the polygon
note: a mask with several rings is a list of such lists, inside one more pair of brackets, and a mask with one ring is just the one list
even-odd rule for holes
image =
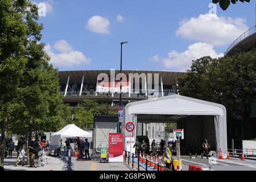
{"label": "grey boxy booth behind the red sign, left of the large tent", "polygon": [[109,133],[117,133],[118,115],[94,115],[92,160],[101,159],[101,145],[109,144]]}

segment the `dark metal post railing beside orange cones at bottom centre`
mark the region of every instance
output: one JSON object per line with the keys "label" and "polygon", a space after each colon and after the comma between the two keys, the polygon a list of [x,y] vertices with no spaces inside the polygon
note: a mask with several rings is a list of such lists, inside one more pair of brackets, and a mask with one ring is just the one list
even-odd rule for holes
{"label": "dark metal post railing beside orange cones at bottom centre", "polygon": [[[141,159],[141,158],[146,161],[145,164],[143,164],[142,162],[139,161],[139,159]],[[135,160],[135,159],[137,159],[137,160]],[[131,160],[131,166],[130,166],[130,160]],[[123,162],[128,164],[128,166],[130,166],[132,169],[134,169],[134,163],[137,163],[138,171],[140,171],[141,167],[144,168],[146,171],[160,171],[160,167],[161,167],[159,163],[157,164],[158,165],[157,169],[149,167],[148,162],[150,162],[150,160],[148,160],[147,158],[141,157],[139,155],[133,154],[133,153],[130,154],[129,151],[125,151],[125,157],[123,158]],[[152,161],[151,163],[153,163],[154,166],[156,164],[154,161]],[[164,169],[163,171],[171,171],[170,168],[167,168],[165,166],[162,166],[162,168]]]}

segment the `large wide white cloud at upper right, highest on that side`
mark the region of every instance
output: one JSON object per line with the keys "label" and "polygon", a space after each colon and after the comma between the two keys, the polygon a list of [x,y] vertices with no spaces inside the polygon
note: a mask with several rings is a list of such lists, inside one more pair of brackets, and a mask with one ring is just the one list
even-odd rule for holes
{"label": "large wide white cloud at upper right, highest on that side", "polygon": [[180,22],[176,35],[181,38],[205,42],[213,46],[232,43],[248,27],[242,18],[218,17],[215,14],[201,14]]}

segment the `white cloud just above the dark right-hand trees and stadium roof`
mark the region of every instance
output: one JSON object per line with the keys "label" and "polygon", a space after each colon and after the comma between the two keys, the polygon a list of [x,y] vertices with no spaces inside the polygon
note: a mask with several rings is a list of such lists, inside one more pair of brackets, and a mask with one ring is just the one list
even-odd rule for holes
{"label": "white cloud just above the dark right-hand trees and stadium roof", "polygon": [[192,60],[203,56],[216,58],[223,56],[223,53],[216,53],[212,45],[199,42],[192,44],[184,52],[171,51],[168,53],[168,57],[161,60],[165,68],[171,68],[172,71],[186,71],[191,67]]}

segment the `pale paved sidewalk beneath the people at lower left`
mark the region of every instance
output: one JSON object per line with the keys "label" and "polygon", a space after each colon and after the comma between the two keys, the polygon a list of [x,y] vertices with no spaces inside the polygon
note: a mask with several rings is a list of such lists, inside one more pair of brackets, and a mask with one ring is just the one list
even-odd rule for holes
{"label": "pale paved sidewalk beneath the people at lower left", "polygon": [[37,168],[30,168],[29,165],[26,166],[14,166],[16,163],[17,154],[13,154],[13,158],[5,158],[4,168],[6,171],[62,171],[64,162],[59,158],[53,158],[51,156],[46,156],[46,165],[44,167],[39,166]]}

